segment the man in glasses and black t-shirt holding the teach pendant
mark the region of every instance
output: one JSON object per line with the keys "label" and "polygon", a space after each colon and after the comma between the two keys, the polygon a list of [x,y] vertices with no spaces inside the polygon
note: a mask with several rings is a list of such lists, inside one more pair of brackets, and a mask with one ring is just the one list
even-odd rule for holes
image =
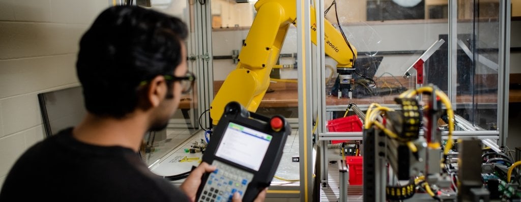
{"label": "man in glasses and black t-shirt holding the teach pendant", "polygon": [[0,201],[194,201],[202,175],[215,167],[201,163],[178,189],[137,155],[143,135],[166,127],[193,84],[187,35],[180,19],[150,9],[103,11],[78,54],[88,115],[29,148],[7,175]]}

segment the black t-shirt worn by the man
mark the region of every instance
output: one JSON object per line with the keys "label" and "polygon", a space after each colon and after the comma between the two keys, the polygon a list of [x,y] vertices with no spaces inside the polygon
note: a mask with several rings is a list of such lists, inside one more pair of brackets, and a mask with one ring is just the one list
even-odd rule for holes
{"label": "black t-shirt worn by the man", "polygon": [[189,201],[132,149],[77,141],[72,129],[35,144],[5,179],[0,201]]}

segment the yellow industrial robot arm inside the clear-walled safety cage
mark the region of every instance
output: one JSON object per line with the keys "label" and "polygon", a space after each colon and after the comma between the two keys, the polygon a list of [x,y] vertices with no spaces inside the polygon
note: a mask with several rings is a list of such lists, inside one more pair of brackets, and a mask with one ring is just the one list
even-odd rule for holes
{"label": "yellow industrial robot arm inside the clear-walled safety cage", "polygon": [[[217,125],[226,104],[235,101],[249,111],[256,111],[269,86],[269,74],[276,64],[280,48],[290,24],[296,24],[294,0],[260,0],[255,4],[257,15],[246,36],[237,68],[222,83],[212,105],[210,116]],[[312,7],[312,14],[315,9]],[[316,23],[312,17],[312,39],[316,44]],[[356,49],[325,20],[325,52],[339,63],[339,68],[352,68]],[[353,49],[354,52],[351,51]]]}

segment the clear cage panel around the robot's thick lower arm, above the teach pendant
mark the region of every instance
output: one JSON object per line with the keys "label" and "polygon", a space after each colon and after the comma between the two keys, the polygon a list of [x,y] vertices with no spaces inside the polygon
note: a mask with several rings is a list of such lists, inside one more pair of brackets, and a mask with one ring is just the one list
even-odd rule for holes
{"label": "clear cage panel around the robot's thick lower arm, above the teach pendant", "polygon": [[[255,2],[212,1],[214,95],[217,94],[228,74],[237,68],[237,59],[243,48],[242,44],[257,14],[254,8]],[[267,93],[256,110],[257,113],[266,116],[279,114],[286,118],[297,117],[295,41],[296,30],[294,26],[290,26],[283,41],[280,55],[275,58],[276,65],[268,72],[271,82]],[[257,55],[243,57],[257,57]],[[254,90],[248,89],[248,91]],[[227,96],[240,96],[240,94]]]}

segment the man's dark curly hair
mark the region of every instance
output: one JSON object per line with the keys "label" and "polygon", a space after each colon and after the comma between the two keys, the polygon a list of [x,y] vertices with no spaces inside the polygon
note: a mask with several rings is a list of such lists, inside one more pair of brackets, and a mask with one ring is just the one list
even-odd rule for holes
{"label": "man's dark curly hair", "polygon": [[181,44],[187,36],[188,28],[179,18],[151,9],[104,10],[80,41],[76,68],[86,109],[115,118],[132,112],[141,81],[172,74],[186,59]]}

